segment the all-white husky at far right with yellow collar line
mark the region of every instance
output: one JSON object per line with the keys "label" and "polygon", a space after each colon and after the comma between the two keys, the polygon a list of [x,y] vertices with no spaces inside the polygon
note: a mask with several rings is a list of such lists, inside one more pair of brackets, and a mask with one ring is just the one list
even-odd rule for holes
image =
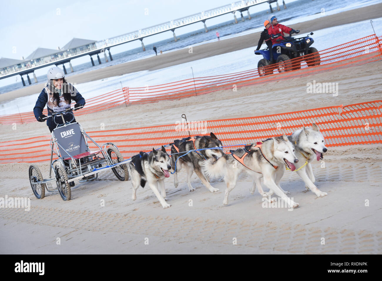
{"label": "all-white husky at far right with yellow collar line", "polygon": [[[312,192],[316,193],[317,197],[328,195],[328,193],[320,191],[314,185],[316,179],[314,178],[311,165],[314,159],[317,161],[324,159],[323,153],[328,150],[325,147],[325,139],[320,132],[320,128],[313,123],[312,128],[303,127],[288,136],[288,140],[293,144],[298,159],[295,171],[304,181],[306,189],[312,190]],[[263,196],[269,195],[272,195],[272,191],[265,193]]]}

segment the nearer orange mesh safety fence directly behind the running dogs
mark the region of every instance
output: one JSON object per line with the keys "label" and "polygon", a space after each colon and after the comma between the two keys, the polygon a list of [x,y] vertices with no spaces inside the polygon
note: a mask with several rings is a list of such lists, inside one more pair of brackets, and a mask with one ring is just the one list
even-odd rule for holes
{"label": "nearer orange mesh safety fence directly behind the running dogs", "polygon": [[[382,143],[382,101],[361,102],[348,106],[329,106],[258,117],[189,122],[191,136],[214,132],[223,145],[238,146],[272,136],[291,134],[303,125],[315,122],[327,146]],[[188,136],[185,123],[153,127],[88,132],[98,144],[112,142],[125,159],[172,143]],[[47,162],[50,160],[51,135],[0,142],[0,163]],[[96,146],[89,144],[91,150]],[[232,147],[231,149],[235,149]],[[170,149],[167,148],[170,153]],[[228,152],[228,149],[226,150]]]}

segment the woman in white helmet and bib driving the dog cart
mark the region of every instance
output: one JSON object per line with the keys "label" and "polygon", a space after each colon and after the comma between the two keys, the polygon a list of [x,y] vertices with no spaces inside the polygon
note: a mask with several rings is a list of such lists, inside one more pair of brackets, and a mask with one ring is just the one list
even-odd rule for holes
{"label": "woman in white helmet and bib driving the dog cart", "polygon": [[[75,101],[74,108],[84,106],[85,99],[78,93],[77,89],[73,85],[68,83],[65,79],[64,71],[59,67],[51,67],[48,70],[48,83],[44,89],[42,89],[34,106],[33,113],[37,121],[44,122],[46,115],[42,114],[42,110],[45,105],[48,108],[48,116],[53,112],[62,111],[70,108],[71,101]],[[72,112],[73,113],[73,112]],[[69,122],[73,116],[70,112],[63,113],[65,122]],[[56,123],[62,124],[61,115],[50,117],[47,119],[47,125],[50,132],[57,126],[52,120],[55,118]],[[76,119],[73,119],[76,122]]]}

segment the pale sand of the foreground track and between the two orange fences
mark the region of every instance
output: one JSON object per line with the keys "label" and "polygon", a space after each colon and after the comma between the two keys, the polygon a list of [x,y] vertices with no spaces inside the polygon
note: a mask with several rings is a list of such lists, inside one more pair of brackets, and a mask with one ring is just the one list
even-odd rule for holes
{"label": "pale sand of the foreground track and between the two orange fences", "polygon": [[[210,120],[372,101],[381,98],[381,71],[382,62],[369,63],[238,88],[234,94],[225,90],[121,106],[77,120],[87,131],[99,130],[101,122],[110,130],[175,123],[182,113],[189,120]],[[306,83],[312,80],[339,83],[338,96],[307,94]],[[16,130],[2,125],[0,130],[5,140],[48,132],[38,122],[18,125]],[[305,192],[298,175],[285,172],[281,186],[299,203],[293,211],[263,208],[261,195],[249,193],[251,179],[246,175],[240,176],[229,204],[223,206],[222,179],[211,181],[220,191],[210,193],[194,174],[191,183],[196,191],[189,192],[184,170],[178,188],[172,176],[165,180],[167,202],[172,205],[165,210],[149,188],[139,188],[137,200],[132,201],[131,181],[118,181],[110,171],[92,182],[76,182],[70,201],[62,201],[58,192],[46,192],[44,199],[37,200],[27,176],[29,164],[1,164],[0,197],[29,197],[31,210],[0,210],[0,253],[380,254],[381,152],[380,145],[330,147],[325,168],[320,162],[312,165],[317,187],[328,193],[323,198]],[[48,163],[38,166],[47,178]]]}

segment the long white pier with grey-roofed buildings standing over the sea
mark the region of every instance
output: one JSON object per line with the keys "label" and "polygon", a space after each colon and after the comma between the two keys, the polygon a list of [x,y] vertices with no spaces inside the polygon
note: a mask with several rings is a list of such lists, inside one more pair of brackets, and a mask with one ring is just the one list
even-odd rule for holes
{"label": "long white pier with grey-roofed buildings standing over the sea", "polygon": [[[52,49],[43,49],[38,48],[35,50],[29,57],[25,60],[14,60],[10,58],[1,58],[0,59],[0,79],[4,79],[10,76],[20,75],[21,81],[25,86],[25,81],[23,75],[27,76],[28,83],[31,84],[31,80],[29,78],[29,74],[33,75],[34,81],[37,83],[36,75],[34,71],[39,68],[44,68],[50,65],[62,65],[65,74],[67,73],[65,68],[65,63],[69,63],[70,70],[73,72],[73,68],[71,66],[71,60],[78,57],[83,57],[86,55],[90,56],[90,60],[92,65],[94,66],[93,55],[97,56],[97,61],[101,64],[101,60],[99,55],[104,53],[105,61],[108,61],[108,57],[110,60],[113,60],[112,54],[110,53],[110,48],[115,47],[117,45],[125,44],[128,42],[140,40],[142,44],[142,50],[145,51],[145,45],[143,43],[143,39],[149,36],[153,36],[156,34],[160,34],[163,32],[171,31],[174,36],[174,41],[177,41],[175,29],[181,28],[183,26],[188,26],[190,24],[195,23],[203,23],[204,30],[208,32],[208,27],[206,21],[211,18],[215,18],[218,16],[226,15],[229,13],[233,14],[233,18],[235,23],[238,23],[238,19],[236,18],[236,12],[240,12],[241,21],[245,21],[243,12],[247,11],[248,19],[251,19],[251,15],[249,13],[249,8],[252,6],[256,6],[263,3],[269,3],[270,11],[273,12],[271,3],[276,2],[278,0],[252,0],[252,1],[237,1],[228,5],[220,6],[211,10],[202,11],[200,13],[189,15],[183,18],[173,19],[172,21],[167,21],[165,23],[157,24],[155,26],[150,26],[148,28],[139,29],[136,31],[128,32],[126,34],[122,34],[119,36],[111,37],[101,41],[91,41],[86,39],[78,39],[73,38],[70,42],[68,42],[64,47],[59,50]],[[284,9],[286,9],[286,5],[284,0],[282,0]],[[277,10],[280,10],[280,6],[277,3]],[[40,54],[36,55],[37,53]]]}

